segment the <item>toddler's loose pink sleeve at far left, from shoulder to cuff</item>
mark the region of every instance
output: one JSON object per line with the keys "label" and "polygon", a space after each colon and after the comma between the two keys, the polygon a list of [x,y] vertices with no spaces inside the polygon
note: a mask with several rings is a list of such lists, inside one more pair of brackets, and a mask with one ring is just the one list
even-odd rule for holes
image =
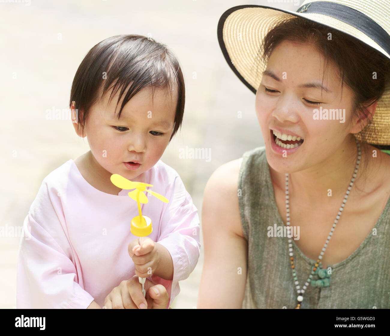
{"label": "toddler's loose pink sleeve at far left, from shoulder to cuff", "polygon": [[62,226],[62,207],[53,195],[56,191],[43,182],[23,223],[16,275],[17,308],[85,309],[94,300],[79,284]]}

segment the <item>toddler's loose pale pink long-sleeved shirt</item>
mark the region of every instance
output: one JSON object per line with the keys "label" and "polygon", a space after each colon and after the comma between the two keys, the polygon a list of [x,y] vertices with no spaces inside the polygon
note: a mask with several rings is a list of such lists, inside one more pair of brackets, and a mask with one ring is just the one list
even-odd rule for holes
{"label": "toddler's loose pale pink long-sleeved shirt", "polygon": [[[152,191],[168,198],[164,203],[149,196],[142,214],[152,220],[153,241],[169,251],[173,280],[156,275],[168,306],[180,292],[179,281],[195,268],[200,254],[199,216],[177,172],[161,160],[144,173]],[[128,244],[138,215],[131,190],[110,195],[92,187],[72,159],[47,175],[23,223],[16,279],[17,308],[87,308],[123,280],[135,275]],[[146,193],[149,195],[149,193]],[[30,233],[29,233],[30,232]]]}

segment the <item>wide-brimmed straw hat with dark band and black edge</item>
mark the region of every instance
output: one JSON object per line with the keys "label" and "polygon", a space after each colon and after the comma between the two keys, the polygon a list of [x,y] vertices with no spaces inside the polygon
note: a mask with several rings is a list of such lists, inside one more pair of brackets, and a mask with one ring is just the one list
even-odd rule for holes
{"label": "wide-brimmed straw hat with dark band and black edge", "polygon": [[[218,22],[218,42],[230,68],[256,93],[266,64],[255,59],[262,39],[279,21],[294,16],[315,21],[354,36],[390,59],[390,5],[388,0],[304,1],[296,12],[260,5],[241,5],[228,9]],[[387,84],[372,123],[378,139],[368,143],[390,149],[390,83]],[[361,140],[360,133],[355,134]],[[379,145],[379,146],[378,146]]]}

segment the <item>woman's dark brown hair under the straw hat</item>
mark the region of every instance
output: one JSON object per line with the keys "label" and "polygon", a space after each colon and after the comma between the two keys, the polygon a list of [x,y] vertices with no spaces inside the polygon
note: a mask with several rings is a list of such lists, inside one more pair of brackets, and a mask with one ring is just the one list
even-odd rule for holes
{"label": "woman's dark brown hair under the straw hat", "polygon": [[[332,34],[332,39],[329,39],[329,33]],[[382,97],[386,85],[390,82],[390,60],[387,57],[348,34],[314,21],[293,17],[279,22],[264,37],[255,62],[257,76],[259,62],[267,64],[275,47],[285,40],[299,44],[312,44],[316,47],[325,59],[323,79],[329,60],[338,66],[341,90],[345,82],[353,92],[353,118],[356,121],[361,117],[367,118],[366,108]],[[374,71],[377,73],[376,79],[373,79]],[[363,143],[367,143],[367,138],[371,136],[378,139],[372,119],[369,118],[359,136]],[[377,145],[372,146],[381,148]],[[361,150],[362,155],[366,157],[367,166],[371,153],[368,146],[362,145]],[[351,155],[356,154],[351,153]]]}

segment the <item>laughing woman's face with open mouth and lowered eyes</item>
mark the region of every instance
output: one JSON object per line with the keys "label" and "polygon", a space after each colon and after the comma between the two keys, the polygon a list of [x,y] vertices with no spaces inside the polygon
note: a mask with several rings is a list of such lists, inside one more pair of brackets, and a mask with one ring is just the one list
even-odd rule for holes
{"label": "laughing woman's face with open mouth and lowered eyes", "polygon": [[[358,132],[352,123],[351,89],[344,85],[341,97],[341,82],[331,62],[322,84],[323,66],[323,56],[313,46],[290,41],[280,43],[269,57],[267,72],[257,89],[255,109],[268,163],[277,172],[316,168],[342,148],[344,141],[344,145],[351,143],[349,133]],[[317,120],[313,110],[320,107],[339,109],[339,119]],[[281,148],[272,130],[300,136],[304,141],[293,149]]]}

